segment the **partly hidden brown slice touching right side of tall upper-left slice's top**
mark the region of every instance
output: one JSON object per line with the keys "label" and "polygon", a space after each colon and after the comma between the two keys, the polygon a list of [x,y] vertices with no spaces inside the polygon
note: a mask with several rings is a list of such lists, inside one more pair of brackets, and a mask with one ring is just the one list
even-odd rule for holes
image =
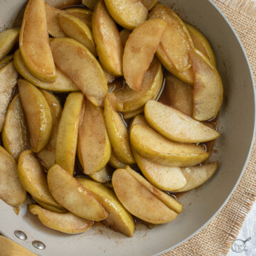
{"label": "partly hidden brown slice touching right side of tall upper-left slice's top", "polygon": [[46,4],[46,21],[48,33],[53,37],[65,37],[65,33],[60,27],[60,21],[58,18],[58,14],[65,14],[65,11],[60,9],[56,9],[49,4]]}

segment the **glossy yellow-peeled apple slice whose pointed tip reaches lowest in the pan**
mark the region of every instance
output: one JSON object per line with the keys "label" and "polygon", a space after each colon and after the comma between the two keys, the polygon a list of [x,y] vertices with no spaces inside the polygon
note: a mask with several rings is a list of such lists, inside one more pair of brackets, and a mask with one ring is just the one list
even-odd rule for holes
{"label": "glossy yellow-peeled apple slice whose pointed tip reaches lowest in the pan", "polygon": [[135,228],[134,220],[132,215],[130,215],[124,206],[122,206],[122,203],[119,202],[117,196],[115,196],[110,189],[95,181],[90,181],[87,178],[78,178],[78,181],[90,191],[108,211],[109,215],[103,220],[103,223],[119,233],[132,237]]}

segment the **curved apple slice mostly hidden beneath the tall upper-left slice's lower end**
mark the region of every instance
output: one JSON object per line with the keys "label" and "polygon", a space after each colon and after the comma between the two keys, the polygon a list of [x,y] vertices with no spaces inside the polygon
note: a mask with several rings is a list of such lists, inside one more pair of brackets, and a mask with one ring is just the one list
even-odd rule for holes
{"label": "curved apple slice mostly hidden beneath the tall upper-left slice's lower end", "polygon": [[56,68],[56,74],[58,75],[58,78],[54,82],[42,82],[33,76],[26,68],[20,50],[16,50],[14,54],[14,65],[18,73],[23,78],[41,89],[51,90],[53,92],[74,92],[79,90],[78,87],[58,68]]}

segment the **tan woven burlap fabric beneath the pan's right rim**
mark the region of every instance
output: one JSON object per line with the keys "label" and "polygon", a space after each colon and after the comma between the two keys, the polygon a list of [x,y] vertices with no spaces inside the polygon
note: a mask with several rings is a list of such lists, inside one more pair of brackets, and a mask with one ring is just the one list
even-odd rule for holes
{"label": "tan woven burlap fabric beneath the pan's right rim", "polygon": [[[256,8],[250,0],[212,0],[228,18],[245,48],[256,78]],[[256,81],[256,79],[255,79]],[[256,139],[241,181],[228,203],[199,233],[162,256],[227,255],[256,198]]]}

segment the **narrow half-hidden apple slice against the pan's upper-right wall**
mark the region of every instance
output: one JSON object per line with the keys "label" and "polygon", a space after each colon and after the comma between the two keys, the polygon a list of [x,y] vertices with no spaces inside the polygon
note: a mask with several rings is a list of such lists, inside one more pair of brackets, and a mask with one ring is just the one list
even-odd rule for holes
{"label": "narrow half-hidden apple slice against the pan's upper-right wall", "polygon": [[189,33],[191,34],[191,38],[193,40],[193,44],[196,49],[201,50],[201,52],[208,57],[210,62],[216,66],[215,55],[213,52],[213,48],[211,48],[209,41],[206,39],[203,34],[198,31],[197,28],[192,26],[189,23],[186,23],[186,27],[188,28]]}

